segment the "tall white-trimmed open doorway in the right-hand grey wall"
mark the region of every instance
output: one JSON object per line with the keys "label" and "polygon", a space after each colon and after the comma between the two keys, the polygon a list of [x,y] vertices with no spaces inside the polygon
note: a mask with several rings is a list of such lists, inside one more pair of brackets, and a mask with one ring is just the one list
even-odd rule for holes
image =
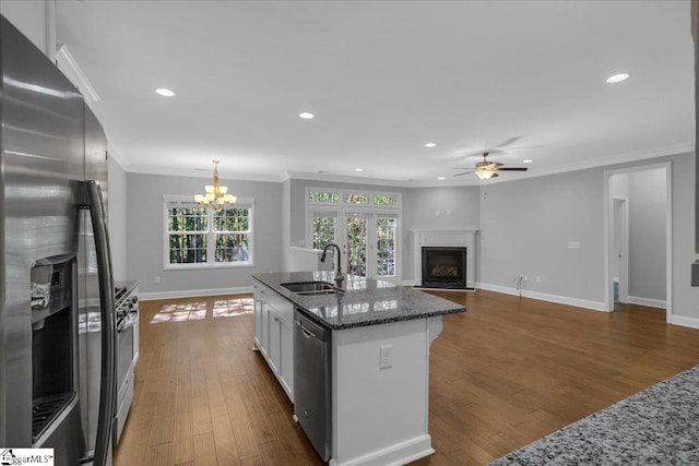
{"label": "tall white-trimmed open doorway in the right-hand grey wall", "polygon": [[606,311],[618,300],[664,308],[666,321],[672,319],[671,167],[663,163],[605,172]]}

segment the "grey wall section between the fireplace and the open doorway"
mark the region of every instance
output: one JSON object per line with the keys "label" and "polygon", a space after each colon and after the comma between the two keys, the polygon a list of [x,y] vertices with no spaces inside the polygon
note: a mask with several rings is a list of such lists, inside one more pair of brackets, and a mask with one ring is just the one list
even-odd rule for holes
{"label": "grey wall section between the fireplace and the open doorway", "polygon": [[[604,177],[584,170],[481,189],[481,286],[604,302]],[[580,249],[568,249],[568,242]],[[537,282],[540,277],[540,282]]]}

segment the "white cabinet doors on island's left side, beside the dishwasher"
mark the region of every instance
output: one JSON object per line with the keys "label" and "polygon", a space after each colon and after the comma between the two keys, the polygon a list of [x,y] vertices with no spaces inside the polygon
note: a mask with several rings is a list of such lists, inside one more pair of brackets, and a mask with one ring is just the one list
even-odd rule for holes
{"label": "white cabinet doors on island's left side, beside the dishwasher", "polygon": [[254,283],[254,346],[294,403],[294,304]]}

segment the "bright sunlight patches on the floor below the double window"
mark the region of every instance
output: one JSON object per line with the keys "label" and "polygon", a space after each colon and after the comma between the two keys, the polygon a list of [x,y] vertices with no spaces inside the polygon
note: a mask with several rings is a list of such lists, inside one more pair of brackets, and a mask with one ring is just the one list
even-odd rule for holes
{"label": "bright sunlight patches on the floor below the double window", "polygon": [[213,302],[213,307],[210,308],[206,307],[206,301],[165,304],[153,316],[151,323],[201,321],[206,316],[235,318],[237,315],[251,314],[253,306],[252,298],[216,300]]}

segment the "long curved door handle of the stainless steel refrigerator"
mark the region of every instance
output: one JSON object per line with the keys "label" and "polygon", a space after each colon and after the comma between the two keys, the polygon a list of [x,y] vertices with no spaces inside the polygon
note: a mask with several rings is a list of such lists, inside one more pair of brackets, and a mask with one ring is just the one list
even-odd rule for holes
{"label": "long curved door handle of the stainless steel refrigerator", "polygon": [[81,207],[90,210],[92,228],[95,238],[97,270],[99,271],[99,308],[102,319],[102,386],[99,393],[99,418],[97,421],[97,440],[95,445],[94,466],[107,463],[109,442],[111,440],[111,423],[114,418],[115,386],[115,299],[114,277],[111,274],[111,252],[109,250],[109,234],[105,222],[105,208],[102,189],[92,180],[82,181],[83,195]]}

